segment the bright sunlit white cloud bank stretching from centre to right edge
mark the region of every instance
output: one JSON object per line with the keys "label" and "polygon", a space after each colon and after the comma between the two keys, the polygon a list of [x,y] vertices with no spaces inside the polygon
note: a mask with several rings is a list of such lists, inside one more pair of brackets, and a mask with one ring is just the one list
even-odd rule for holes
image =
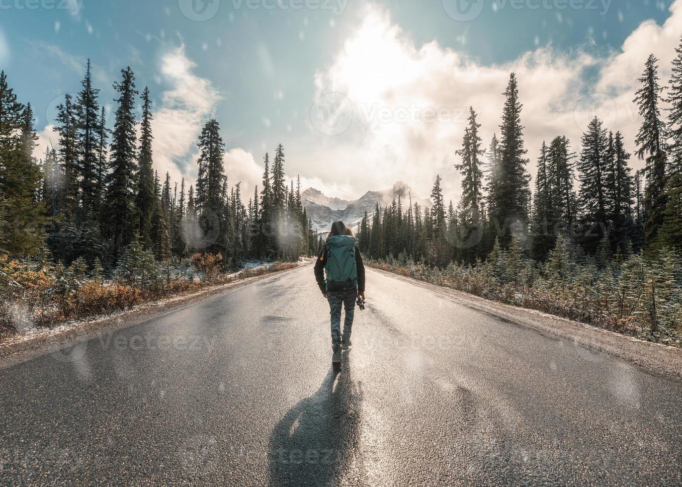
{"label": "bright sunlit white cloud bank stretching from centre to right edge", "polygon": [[[385,10],[369,5],[364,21],[331,65],[316,73],[315,100],[344,93],[353,106],[353,123],[342,135],[314,132],[318,143],[305,157],[308,175],[339,190],[353,188],[354,194],[334,196],[357,196],[398,179],[424,196],[440,173],[447,198],[456,200],[460,176],[454,152],[461,145],[465,110],[471,105],[479,113],[487,147],[492,134],[499,135],[510,72],[518,76],[524,104],[531,173],[542,141],[565,135],[579,151],[580,136],[594,115],[602,116],[610,129],[623,131],[632,150],[638,125],[632,104],[636,79],[650,52],[669,65],[679,44],[682,0],[670,10],[672,16],[662,27],[642,23],[621,53],[593,57],[582,50],[561,53],[549,45],[503,65],[481,65],[436,42],[415,46]],[[586,80],[591,67],[600,71],[596,83]],[[427,115],[439,110],[445,121],[430,122]],[[329,167],[339,169],[330,177]]]}

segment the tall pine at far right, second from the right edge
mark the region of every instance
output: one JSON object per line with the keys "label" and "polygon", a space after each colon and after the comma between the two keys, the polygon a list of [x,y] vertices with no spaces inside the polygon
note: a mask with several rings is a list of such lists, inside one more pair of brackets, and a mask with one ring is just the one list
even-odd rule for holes
{"label": "tall pine at far right, second from the right edge", "polygon": [[655,250],[658,232],[663,224],[666,209],[666,125],[658,108],[664,90],[659,83],[658,59],[652,54],[647,59],[634,102],[642,117],[642,126],[636,138],[637,156],[646,161],[647,187],[644,194],[644,240],[648,250]]}

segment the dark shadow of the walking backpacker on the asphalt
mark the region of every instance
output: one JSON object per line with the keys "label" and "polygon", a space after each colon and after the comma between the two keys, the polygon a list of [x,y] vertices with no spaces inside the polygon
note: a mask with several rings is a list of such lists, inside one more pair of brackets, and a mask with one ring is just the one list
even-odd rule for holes
{"label": "dark shadow of the walking backpacker on the asphalt", "polygon": [[351,379],[349,355],[342,372],[329,371],[315,394],[290,409],[269,443],[271,486],[336,486],[361,477],[360,385]]}

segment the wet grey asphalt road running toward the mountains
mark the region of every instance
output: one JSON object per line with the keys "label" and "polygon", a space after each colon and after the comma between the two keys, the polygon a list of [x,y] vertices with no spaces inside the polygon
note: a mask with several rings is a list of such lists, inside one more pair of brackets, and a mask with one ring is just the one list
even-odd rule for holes
{"label": "wet grey asphalt road running toward the mountains", "polygon": [[0,370],[0,484],[682,483],[682,383],[368,269],[331,368],[312,266]]}

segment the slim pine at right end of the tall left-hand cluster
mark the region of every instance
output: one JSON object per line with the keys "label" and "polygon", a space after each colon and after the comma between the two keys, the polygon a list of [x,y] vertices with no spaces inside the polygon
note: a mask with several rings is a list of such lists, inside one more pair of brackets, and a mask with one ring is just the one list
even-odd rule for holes
{"label": "slim pine at right end of the tall left-hand cluster", "polygon": [[136,194],[136,210],[138,212],[138,223],[136,228],[140,233],[140,241],[144,248],[151,248],[151,218],[155,212],[155,197],[154,197],[154,180],[152,160],[153,153],[151,143],[153,135],[151,134],[151,121],[153,115],[151,114],[151,100],[149,100],[149,88],[145,87],[142,95],[142,123],[140,124],[140,151],[138,159],[138,173],[137,173],[137,194]]}

